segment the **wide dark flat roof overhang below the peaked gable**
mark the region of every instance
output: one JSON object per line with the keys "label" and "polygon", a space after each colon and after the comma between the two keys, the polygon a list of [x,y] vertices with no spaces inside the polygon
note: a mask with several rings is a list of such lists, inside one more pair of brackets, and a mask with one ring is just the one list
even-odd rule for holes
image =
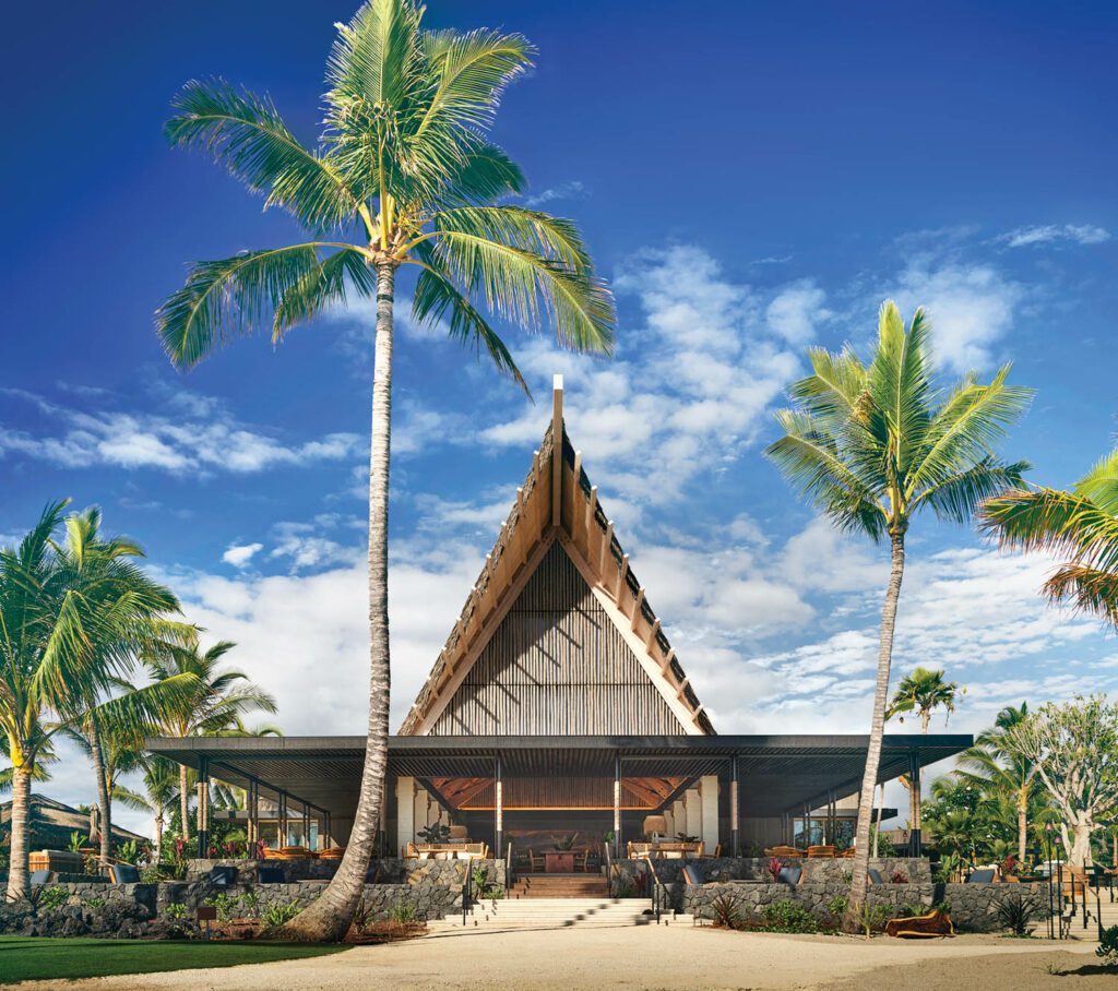
{"label": "wide dark flat roof overhang below the peaked gable", "polygon": [[[267,797],[284,792],[319,811],[350,816],[357,807],[364,763],[363,736],[153,737],[146,749],[247,788],[255,781]],[[887,734],[878,780],[891,781],[946,760],[974,745],[969,734]],[[741,808],[747,816],[802,813],[828,795],[861,788],[869,736],[390,736],[388,775],[493,776],[501,757],[505,776],[614,775],[625,778],[717,774],[729,781],[738,757]]]}

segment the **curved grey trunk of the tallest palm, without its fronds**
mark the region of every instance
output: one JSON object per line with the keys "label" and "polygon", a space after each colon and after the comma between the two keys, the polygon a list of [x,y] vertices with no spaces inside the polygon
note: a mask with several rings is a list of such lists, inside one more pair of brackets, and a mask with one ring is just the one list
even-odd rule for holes
{"label": "curved grey trunk of the tallest palm, without its fronds", "polygon": [[369,457],[369,730],[361,795],[353,830],[338,871],[322,897],[285,930],[301,940],[338,941],[345,935],[364,890],[377,841],[388,764],[388,468],[392,406],[392,294],[396,266],[377,268],[377,341],[372,372],[372,444]]}

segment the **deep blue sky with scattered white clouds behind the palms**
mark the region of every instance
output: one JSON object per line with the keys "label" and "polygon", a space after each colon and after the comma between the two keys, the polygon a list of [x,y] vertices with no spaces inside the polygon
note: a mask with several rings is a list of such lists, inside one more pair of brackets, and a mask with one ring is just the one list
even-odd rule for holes
{"label": "deep blue sky with scattered white clouds behind the palms", "polygon": [[[360,732],[370,314],[188,377],[152,313],[183,265],[293,236],[169,151],[168,103],[221,75],[315,135],[345,3],[64,3],[9,16],[0,536],[98,503],[191,619],[240,645],[290,733]],[[1070,484],[1112,445],[1118,139],[1108,4],[439,3],[523,31],[534,73],[496,140],[529,201],[576,218],[617,295],[613,363],[510,332],[538,399],[408,325],[396,366],[394,721],[410,705],[547,425],[568,428],[722,732],[859,732],[881,552],[837,537],[760,456],[809,344],[864,346],[880,302],[929,307],[950,374],[1036,389],[1004,447]],[[405,287],[406,288],[406,287]],[[896,670],[969,688],[951,725],[1115,688],[1118,648],[1043,607],[1046,564],[913,528]],[[937,725],[941,725],[938,723]],[[80,760],[47,790],[88,800]]]}

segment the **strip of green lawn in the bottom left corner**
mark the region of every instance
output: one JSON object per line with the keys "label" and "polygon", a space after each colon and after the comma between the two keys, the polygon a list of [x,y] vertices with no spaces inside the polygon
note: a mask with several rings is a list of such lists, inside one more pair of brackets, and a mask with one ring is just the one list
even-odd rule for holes
{"label": "strip of green lawn in the bottom left corner", "polygon": [[0,984],[303,960],[348,946],[309,943],[54,940],[0,936]]}

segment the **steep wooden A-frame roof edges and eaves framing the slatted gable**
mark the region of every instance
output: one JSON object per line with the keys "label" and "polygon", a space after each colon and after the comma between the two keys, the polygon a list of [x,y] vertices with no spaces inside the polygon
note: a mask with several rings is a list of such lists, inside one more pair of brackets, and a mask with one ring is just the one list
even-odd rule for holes
{"label": "steep wooden A-frame roof edges and eaves framing the slatted gable", "polygon": [[532,577],[546,559],[553,561],[556,544],[588,585],[593,608],[605,613],[654,686],[655,704],[678,721],[678,732],[714,733],[581,463],[581,452],[574,449],[563,428],[562,382],[557,377],[551,423],[533,455],[532,469],[517,489],[517,503],[501,524],[501,534],[400,735],[440,732],[434,730],[439,717]]}

